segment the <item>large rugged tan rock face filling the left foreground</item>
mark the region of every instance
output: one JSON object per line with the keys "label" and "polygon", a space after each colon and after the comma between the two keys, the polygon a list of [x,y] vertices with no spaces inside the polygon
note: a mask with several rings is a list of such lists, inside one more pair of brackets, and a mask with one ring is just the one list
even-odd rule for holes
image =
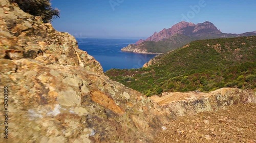
{"label": "large rugged tan rock face filling the left foreground", "polygon": [[[8,89],[0,102],[9,111],[4,119],[1,104],[8,139],[0,142],[151,142],[172,119],[157,102],[103,75],[73,36],[40,17],[3,0],[0,23],[0,92]],[[248,91],[239,96],[218,105],[254,101]]]}

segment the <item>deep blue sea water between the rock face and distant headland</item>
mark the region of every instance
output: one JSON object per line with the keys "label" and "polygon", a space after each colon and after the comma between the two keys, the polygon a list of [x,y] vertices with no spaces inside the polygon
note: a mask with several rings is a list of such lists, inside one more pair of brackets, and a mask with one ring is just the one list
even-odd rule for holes
{"label": "deep blue sea water between the rock face and distant headland", "polygon": [[104,72],[110,69],[141,68],[156,54],[123,52],[121,48],[138,40],[77,38],[78,47],[87,51],[102,66]]}

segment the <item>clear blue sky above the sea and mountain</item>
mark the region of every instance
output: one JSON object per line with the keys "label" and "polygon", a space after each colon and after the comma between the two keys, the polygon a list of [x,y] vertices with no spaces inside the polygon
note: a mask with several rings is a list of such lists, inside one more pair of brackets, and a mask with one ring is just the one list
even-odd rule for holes
{"label": "clear blue sky above the sea and mountain", "polygon": [[56,30],[75,37],[145,39],[184,20],[223,33],[256,31],[255,0],[52,0]]}

